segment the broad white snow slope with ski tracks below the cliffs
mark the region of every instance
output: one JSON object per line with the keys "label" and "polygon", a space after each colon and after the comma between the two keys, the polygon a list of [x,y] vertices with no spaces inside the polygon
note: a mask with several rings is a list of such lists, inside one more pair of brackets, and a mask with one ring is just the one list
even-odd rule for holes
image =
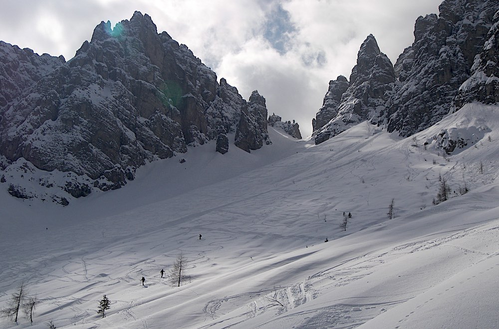
{"label": "broad white snow slope with ski tracks below the cliffs", "polygon": [[[22,282],[39,300],[0,328],[499,328],[497,106],[406,139],[268,129],[260,150],[191,148],[67,207],[0,184],[0,307]],[[171,287],[181,252],[191,279]]]}

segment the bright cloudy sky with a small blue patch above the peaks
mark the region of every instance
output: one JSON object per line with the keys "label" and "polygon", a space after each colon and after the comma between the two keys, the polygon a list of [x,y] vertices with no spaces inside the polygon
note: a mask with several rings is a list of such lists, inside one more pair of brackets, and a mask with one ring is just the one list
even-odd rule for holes
{"label": "bright cloudy sky with a small blue patch above the peaks", "polygon": [[269,114],[295,119],[302,135],[328,82],[350,76],[372,33],[395,63],[414,41],[420,15],[442,0],[0,0],[0,40],[72,58],[102,20],[148,13],[158,27],[244,98],[257,89]]}

